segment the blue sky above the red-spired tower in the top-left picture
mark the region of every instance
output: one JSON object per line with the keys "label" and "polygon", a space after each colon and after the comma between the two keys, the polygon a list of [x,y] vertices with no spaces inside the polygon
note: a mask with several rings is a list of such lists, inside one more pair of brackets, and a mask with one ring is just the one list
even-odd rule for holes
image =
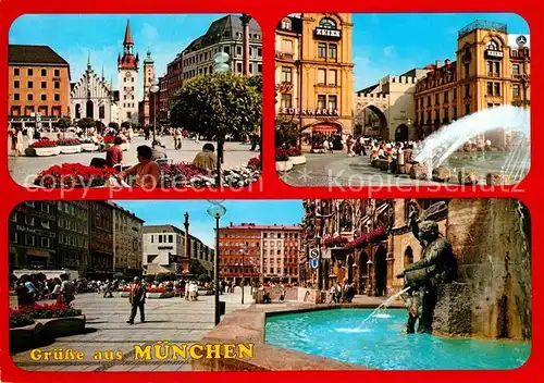
{"label": "blue sky above the red-spired tower in the top-left picture", "polygon": [[[70,63],[72,82],[87,69],[87,54],[95,73],[102,66],[108,82],[118,89],[118,54],[123,53],[126,21],[131,20],[134,53],[139,53],[140,72],[148,48],[156,76],[195,38],[203,35],[221,14],[115,14],[115,15],[23,15],[10,29],[10,44],[48,45]],[[141,76],[140,76],[141,78]],[[140,79],[140,86],[143,86]]]}

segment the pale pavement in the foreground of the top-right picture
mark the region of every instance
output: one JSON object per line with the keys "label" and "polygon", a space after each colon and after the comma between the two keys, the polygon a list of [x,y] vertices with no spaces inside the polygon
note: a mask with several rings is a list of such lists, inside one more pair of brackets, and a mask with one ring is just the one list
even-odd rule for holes
{"label": "pale pavement in the foreground of the top-right picture", "polygon": [[305,153],[306,163],[295,165],[280,174],[293,186],[432,186],[441,185],[432,181],[410,180],[408,175],[394,175],[370,165],[368,157],[347,157],[345,152]]}

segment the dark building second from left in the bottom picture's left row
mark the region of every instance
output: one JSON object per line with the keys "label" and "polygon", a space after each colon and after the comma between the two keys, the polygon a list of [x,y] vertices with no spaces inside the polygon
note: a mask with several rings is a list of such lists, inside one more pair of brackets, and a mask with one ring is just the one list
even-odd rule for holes
{"label": "dark building second from left in the bottom picture's left row", "polygon": [[57,269],[85,274],[89,265],[89,205],[92,201],[57,202]]}

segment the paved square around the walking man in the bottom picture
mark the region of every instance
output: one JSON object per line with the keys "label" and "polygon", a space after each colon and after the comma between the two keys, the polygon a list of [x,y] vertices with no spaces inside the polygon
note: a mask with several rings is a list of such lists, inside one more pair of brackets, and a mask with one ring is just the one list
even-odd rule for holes
{"label": "paved square around the walking man in the bottom picture", "polygon": [[[240,304],[240,291],[221,295],[226,302],[226,313],[249,307],[250,289],[245,291],[245,305]],[[34,361],[30,350],[13,354],[15,365],[27,371],[189,371],[190,361],[141,361],[134,360],[134,345],[151,345],[156,341],[176,344],[199,342],[206,331],[214,326],[213,296],[200,296],[198,301],[180,297],[147,299],[146,322],[126,323],[131,312],[128,298],[102,298],[97,294],[76,296],[74,306],[86,316],[84,334],[58,338],[53,344],[41,347],[44,351],[73,349],[85,353],[82,361]],[[95,360],[97,350],[122,351],[123,358],[115,361]]]}

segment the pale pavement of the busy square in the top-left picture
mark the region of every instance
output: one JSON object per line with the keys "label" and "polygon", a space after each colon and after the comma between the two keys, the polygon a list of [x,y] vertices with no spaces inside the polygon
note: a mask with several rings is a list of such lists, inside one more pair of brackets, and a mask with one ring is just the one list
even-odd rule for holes
{"label": "pale pavement of the busy square in the top-left picture", "polygon": [[[174,149],[174,140],[171,136],[158,137],[162,145],[166,147],[166,153],[174,162],[191,162],[195,156],[202,149],[207,141],[199,141],[185,139],[181,150]],[[10,140],[11,144],[11,140]],[[217,146],[214,143],[213,146]],[[135,137],[133,143],[129,144],[127,151],[123,153],[125,163],[135,164],[138,160],[136,157],[136,148],[140,145],[151,145],[151,140],[145,140],[144,137]],[[25,137],[25,148],[27,147]],[[225,168],[237,166],[246,164],[249,159],[259,156],[258,151],[250,151],[250,145],[240,143],[226,143],[225,145]],[[106,158],[106,153],[100,152],[81,152],[74,155],[59,155],[53,157],[15,157],[11,147],[8,148],[8,168],[13,180],[23,186],[30,186],[34,184],[36,175],[52,165],[65,162],[77,162],[83,164],[90,164],[95,157]]]}

